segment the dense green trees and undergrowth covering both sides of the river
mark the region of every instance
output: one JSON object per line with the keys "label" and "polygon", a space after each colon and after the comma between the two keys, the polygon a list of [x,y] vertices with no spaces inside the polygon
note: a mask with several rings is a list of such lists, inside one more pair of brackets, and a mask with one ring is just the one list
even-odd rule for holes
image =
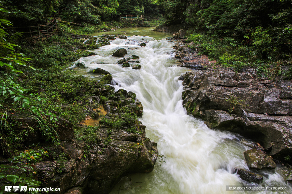
{"label": "dense green trees and undergrowth covering both sides of the river", "polygon": [[[143,18],[122,20],[121,15]],[[36,34],[37,28],[55,18],[58,27],[52,26],[50,33],[46,29],[48,36]],[[67,162],[72,159],[64,151],[63,141],[67,139],[58,134],[64,126],[72,129],[77,141],[84,143],[84,158],[80,161],[89,161],[91,150],[100,142],[103,147],[100,146],[98,153],[105,154],[115,129],[143,134],[138,121],[143,108],[140,110],[142,105],[135,101],[135,94],[131,97],[126,90],[115,91],[109,85],[112,80],[112,77],[108,80],[109,75],[97,81],[68,67],[109,44],[109,35],[103,35],[102,41],[96,43],[93,33],[106,34],[125,27],[175,25],[186,31],[183,38],[186,43],[192,42],[190,49],[197,49],[200,55],[216,61],[213,70],[232,67],[238,73],[252,67],[258,76],[275,82],[279,75],[292,79],[291,0],[0,1],[0,193],[4,193],[7,185],[45,184],[46,179],[38,177],[34,169],[39,161],[54,161],[56,174],[66,172]],[[34,34],[27,26],[34,26]],[[84,43],[85,39],[88,44]],[[77,64],[85,67],[84,63]],[[95,104],[94,97],[98,97]],[[88,117],[98,119],[100,116],[93,109],[109,101],[116,104],[111,106],[117,106],[115,113],[120,115],[100,120],[107,126],[103,142],[97,138],[98,126],[82,128],[80,122]],[[193,112],[195,107],[196,104]],[[136,149],[137,145],[132,148]],[[291,164],[287,153],[286,161]],[[163,160],[162,154],[157,152],[156,156]],[[110,185],[112,188],[113,183]]]}

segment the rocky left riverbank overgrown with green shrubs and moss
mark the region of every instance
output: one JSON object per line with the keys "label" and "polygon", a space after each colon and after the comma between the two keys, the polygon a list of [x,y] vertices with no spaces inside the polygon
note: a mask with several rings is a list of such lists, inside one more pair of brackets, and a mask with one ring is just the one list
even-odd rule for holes
{"label": "rocky left riverbank overgrown with green shrubs and moss", "polygon": [[[30,158],[30,154],[42,155],[40,150],[45,150],[46,157],[32,155],[35,161],[30,161],[33,166],[27,172],[30,180],[41,181],[42,187],[60,188],[59,193],[72,187],[85,193],[96,189],[109,193],[122,176],[153,170],[159,157],[157,144],[145,137],[145,126],[138,121],[143,107],[133,92],[115,92],[114,87],[105,85],[112,81],[110,74],[100,81],[89,80],[67,68],[109,44],[107,38],[97,40],[73,32],[76,29],[60,25],[53,36],[15,42],[21,43],[18,51],[32,58],[29,65],[36,70],[20,68],[24,75],[14,75],[14,79],[29,88],[23,93],[27,99],[34,102],[29,94],[37,94],[38,108],[56,116],[52,121],[6,101],[1,106],[8,121],[1,128],[1,165],[8,167],[5,176],[21,177],[22,170],[9,171],[14,168],[9,158],[23,153]],[[84,119],[94,119],[96,125],[80,125]],[[13,182],[2,179],[4,184]]]}

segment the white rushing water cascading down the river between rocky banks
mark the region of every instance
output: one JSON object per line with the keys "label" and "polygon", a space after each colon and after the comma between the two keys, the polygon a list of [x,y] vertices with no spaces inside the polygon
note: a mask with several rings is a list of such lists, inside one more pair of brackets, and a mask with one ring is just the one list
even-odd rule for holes
{"label": "white rushing water cascading down the river between rocky banks", "polygon": [[[133,41],[142,38],[149,41],[146,47]],[[159,153],[166,157],[166,162],[157,161],[150,173],[124,177],[111,193],[236,193],[226,191],[226,186],[242,185],[233,171],[238,167],[248,169],[243,152],[250,148],[239,143],[241,136],[211,130],[203,121],[187,115],[178,78],[188,69],[176,66],[173,45],[165,39],[132,36],[112,40],[110,45],[95,50],[98,55],[79,59],[89,67],[79,71],[84,76],[93,78],[96,75],[89,70],[100,67],[117,81],[116,90],[136,93],[144,108],[141,120],[146,125],[146,136],[158,143]],[[121,58],[111,55],[118,48],[127,49],[125,57],[138,55],[141,69],[116,64]],[[262,185],[286,185],[277,168],[258,173],[264,176]],[[128,189],[117,191],[123,188]]]}

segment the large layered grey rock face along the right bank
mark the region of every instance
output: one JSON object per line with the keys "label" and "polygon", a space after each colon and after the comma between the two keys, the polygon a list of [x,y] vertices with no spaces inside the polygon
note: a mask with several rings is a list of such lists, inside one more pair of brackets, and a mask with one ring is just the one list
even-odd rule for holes
{"label": "large layered grey rock face along the right bank", "polygon": [[188,114],[205,119],[210,128],[255,140],[275,159],[292,155],[291,80],[279,76],[272,83],[253,68],[194,70],[180,79]]}

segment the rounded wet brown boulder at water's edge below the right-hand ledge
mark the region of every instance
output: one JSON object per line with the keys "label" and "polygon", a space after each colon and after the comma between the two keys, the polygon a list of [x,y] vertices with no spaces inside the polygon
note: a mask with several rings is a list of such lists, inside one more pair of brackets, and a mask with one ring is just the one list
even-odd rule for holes
{"label": "rounded wet brown boulder at water's edge below the right-hand ledge", "polygon": [[270,156],[254,148],[246,150],[244,158],[249,169],[261,170],[263,168],[275,169],[277,167]]}

